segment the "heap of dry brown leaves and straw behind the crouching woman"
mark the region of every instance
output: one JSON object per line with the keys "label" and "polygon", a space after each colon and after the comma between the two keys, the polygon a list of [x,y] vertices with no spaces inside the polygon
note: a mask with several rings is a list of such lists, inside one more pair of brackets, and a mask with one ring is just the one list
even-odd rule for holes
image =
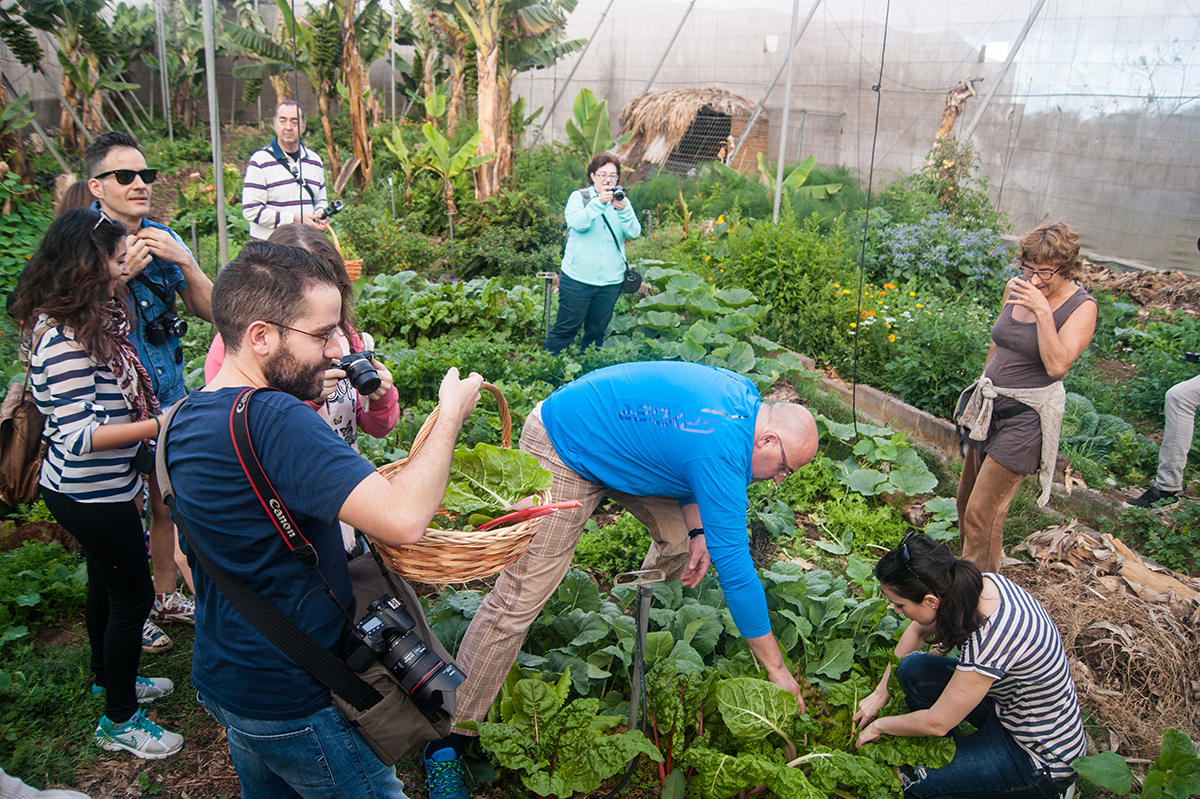
{"label": "heap of dry brown leaves and straw behind the crouching woman", "polygon": [[1080,703],[1128,739],[1122,753],[1157,757],[1169,727],[1200,737],[1200,584],[1074,521],[1021,549],[1037,571],[1012,577],[1058,625]]}

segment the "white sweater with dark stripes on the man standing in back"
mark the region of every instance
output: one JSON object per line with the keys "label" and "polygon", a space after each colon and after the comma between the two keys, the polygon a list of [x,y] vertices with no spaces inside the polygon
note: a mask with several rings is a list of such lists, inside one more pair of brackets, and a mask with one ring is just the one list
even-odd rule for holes
{"label": "white sweater with dark stripes on the man standing in back", "polygon": [[326,205],[320,156],[302,144],[295,156],[284,154],[271,139],[250,157],[241,184],[241,215],[256,239],[266,239],[281,224],[295,222],[301,212],[313,216]]}

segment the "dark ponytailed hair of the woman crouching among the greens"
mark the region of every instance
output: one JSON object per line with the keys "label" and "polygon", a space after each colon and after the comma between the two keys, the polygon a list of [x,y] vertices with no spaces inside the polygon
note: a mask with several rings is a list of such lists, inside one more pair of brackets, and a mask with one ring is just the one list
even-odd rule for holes
{"label": "dark ponytailed hair of the woman crouching among the greens", "polygon": [[875,578],[910,602],[923,602],[929,594],[941,600],[934,635],[943,649],[961,645],[983,624],[979,567],[923,533],[907,536],[880,558]]}

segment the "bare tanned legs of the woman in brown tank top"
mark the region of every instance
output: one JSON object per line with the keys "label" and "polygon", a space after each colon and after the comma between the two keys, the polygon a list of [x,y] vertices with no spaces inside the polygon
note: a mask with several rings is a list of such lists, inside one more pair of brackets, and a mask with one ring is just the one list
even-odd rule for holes
{"label": "bare tanned legs of the woman in brown tank top", "polygon": [[1004,521],[1022,480],[1024,474],[1002,467],[973,446],[967,447],[959,481],[959,537],[962,559],[980,571],[1000,571]]}

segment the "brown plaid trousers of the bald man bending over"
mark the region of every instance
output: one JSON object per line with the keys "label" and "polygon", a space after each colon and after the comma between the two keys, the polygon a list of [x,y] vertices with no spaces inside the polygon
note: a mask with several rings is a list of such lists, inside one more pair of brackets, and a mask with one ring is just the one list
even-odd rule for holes
{"label": "brown plaid trousers of the bald man bending over", "polygon": [[623,505],[648,528],[653,543],[642,569],[662,569],[667,579],[674,579],[688,567],[688,525],[678,499],[634,497],[580,476],[554,452],[536,411],[526,420],[521,449],[554,475],[550,491],[556,503],[576,499],[583,507],[545,517],[524,557],[500,572],[496,587],[472,619],[456,655],[467,674],[467,681],[455,692],[456,725],[484,721],[487,716],[529,625],[566,576],[583,524],[606,497]]}

